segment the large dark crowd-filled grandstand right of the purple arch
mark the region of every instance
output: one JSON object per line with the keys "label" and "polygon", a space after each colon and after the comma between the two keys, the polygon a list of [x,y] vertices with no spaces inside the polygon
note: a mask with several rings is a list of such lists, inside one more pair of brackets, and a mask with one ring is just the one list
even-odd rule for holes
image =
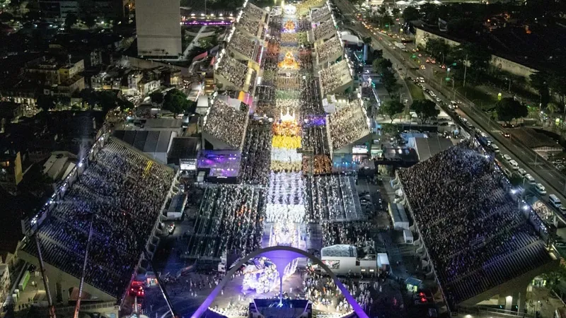
{"label": "large dark crowd-filled grandstand right of the purple arch", "polygon": [[449,310],[498,295],[522,312],[526,285],[558,263],[492,160],[464,141],[398,179],[428,258],[423,266],[430,264]]}

